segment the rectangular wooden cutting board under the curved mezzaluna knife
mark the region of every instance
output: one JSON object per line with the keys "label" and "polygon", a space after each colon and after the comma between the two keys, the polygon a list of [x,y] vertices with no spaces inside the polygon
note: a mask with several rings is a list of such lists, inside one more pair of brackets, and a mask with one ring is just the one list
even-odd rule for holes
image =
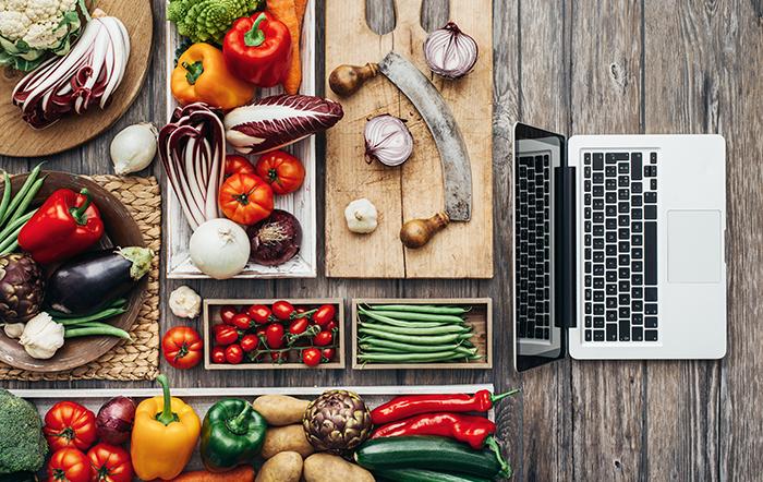
{"label": "rectangular wooden cutting board under the curved mezzaluna knife", "polygon": [[[378,62],[395,50],[432,79],[450,106],[472,166],[472,219],[451,222],[424,248],[409,250],[399,239],[402,222],[443,210],[443,173],[434,140],[416,109],[383,75],[352,97],[327,96],[344,108],[344,118],[327,133],[326,275],[343,278],[493,277],[493,3],[451,0],[449,17],[474,37],[480,58],[458,81],[445,81],[426,67],[421,0],[396,0],[396,28],[379,36],[365,22],[364,0],[326,2],[326,76],[342,63]],[[391,113],[408,120],[414,153],[402,167],[368,165],[363,129],[370,117]],[[367,197],[379,212],[371,234],[347,228],[344,207]]]}

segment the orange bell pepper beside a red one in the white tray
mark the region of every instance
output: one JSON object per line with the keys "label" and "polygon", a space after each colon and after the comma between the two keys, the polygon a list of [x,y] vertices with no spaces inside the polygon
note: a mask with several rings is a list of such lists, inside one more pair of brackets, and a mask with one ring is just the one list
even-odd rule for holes
{"label": "orange bell pepper beside a red one in the white tray", "polygon": [[223,110],[249,104],[256,89],[235,77],[226,65],[222,50],[209,44],[194,44],[180,56],[170,86],[181,106],[205,103]]}

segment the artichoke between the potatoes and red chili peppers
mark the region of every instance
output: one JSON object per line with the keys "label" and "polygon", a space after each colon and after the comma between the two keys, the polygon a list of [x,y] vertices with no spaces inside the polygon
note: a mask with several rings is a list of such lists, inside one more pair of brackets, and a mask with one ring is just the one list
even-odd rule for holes
{"label": "artichoke between the potatoes and red chili peppers", "polygon": [[302,425],[316,450],[344,454],[371,435],[371,412],[358,394],[329,390],[307,406]]}

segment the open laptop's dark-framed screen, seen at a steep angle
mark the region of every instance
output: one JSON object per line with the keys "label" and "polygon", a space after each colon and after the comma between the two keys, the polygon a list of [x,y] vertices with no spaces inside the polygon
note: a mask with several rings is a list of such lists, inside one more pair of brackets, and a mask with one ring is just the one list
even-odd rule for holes
{"label": "open laptop's dark-framed screen, seen at a steep angle", "polygon": [[561,196],[565,137],[518,123],[514,128],[514,361],[518,371],[566,354],[557,316],[556,214]]}

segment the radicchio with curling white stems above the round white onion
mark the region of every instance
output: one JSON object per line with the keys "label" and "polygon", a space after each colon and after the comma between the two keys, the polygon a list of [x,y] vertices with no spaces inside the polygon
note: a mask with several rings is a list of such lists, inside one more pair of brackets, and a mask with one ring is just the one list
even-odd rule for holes
{"label": "radicchio with curling white stems above the round white onion", "polygon": [[161,162],[193,229],[220,217],[217,192],[226,168],[221,117],[206,104],[190,104],[177,108],[159,132]]}

